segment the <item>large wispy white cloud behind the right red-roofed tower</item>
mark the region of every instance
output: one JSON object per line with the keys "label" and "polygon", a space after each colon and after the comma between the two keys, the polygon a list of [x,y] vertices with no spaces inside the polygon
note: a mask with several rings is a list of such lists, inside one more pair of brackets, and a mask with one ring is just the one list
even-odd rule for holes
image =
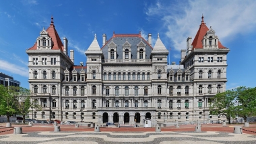
{"label": "large wispy white cloud behind the right red-roofed tower", "polygon": [[220,42],[226,42],[231,41],[237,34],[249,33],[256,28],[255,7],[256,1],[157,1],[146,9],[146,15],[148,20],[160,17],[163,23],[161,28],[166,31],[165,34],[172,41],[174,49],[181,50],[186,48],[189,36],[195,37],[202,13],[207,27],[212,25]]}

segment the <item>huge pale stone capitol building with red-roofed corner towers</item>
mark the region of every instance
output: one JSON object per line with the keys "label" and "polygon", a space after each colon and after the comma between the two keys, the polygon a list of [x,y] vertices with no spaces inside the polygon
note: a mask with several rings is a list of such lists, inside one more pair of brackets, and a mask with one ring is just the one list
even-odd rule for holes
{"label": "huge pale stone capitol building with red-roofed corner towers", "polygon": [[[177,33],[179,34],[179,33]],[[152,38],[156,38],[154,47]],[[26,50],[32,102],[30,119],[94,123],[143,124],[218,120],[210,98],[226,90],[227,54],[212,27],[202,17],[195,37],[187,38],[181,61],[168,64],[160,35],[96,35],[85,54],[86,64],[74,64],[67,38],[59,38],[51,19],[34,46]],[[184,46],[185,48],[185,46]]]}

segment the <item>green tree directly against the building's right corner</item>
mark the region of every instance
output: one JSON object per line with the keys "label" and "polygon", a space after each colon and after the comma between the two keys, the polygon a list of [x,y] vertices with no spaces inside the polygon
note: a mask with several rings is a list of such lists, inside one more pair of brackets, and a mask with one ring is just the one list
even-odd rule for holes
{"label": "green tree directly against the building's right corner", "polygon": [[234,90],[226,90],[226,92],[218,93],[216,96],[211,98],[212,104],[210,104],[210,113],[213,115],[222,115],[226,114],[228,123],[231,123],[231,117],[234,117],[234,98],[236,92]]}

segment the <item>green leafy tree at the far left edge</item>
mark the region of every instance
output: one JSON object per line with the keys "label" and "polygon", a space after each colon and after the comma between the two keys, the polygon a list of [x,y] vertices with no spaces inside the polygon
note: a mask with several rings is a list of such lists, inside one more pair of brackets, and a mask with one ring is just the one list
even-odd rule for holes
{"label": "green leafy tree at the far left edge", "polygon": [[16,104],[18,102],[18,88],[15,86],[3,86],[0,85],[0,115],[6,115],[7,123],[9,123],[9,117],[15,114]]}

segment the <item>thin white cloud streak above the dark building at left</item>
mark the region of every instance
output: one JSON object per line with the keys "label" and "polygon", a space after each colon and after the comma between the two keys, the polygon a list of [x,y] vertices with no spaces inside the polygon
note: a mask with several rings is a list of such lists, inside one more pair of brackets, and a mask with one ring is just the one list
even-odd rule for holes
{"label": "thin white cloud streak above the dark building at left", "polygon": [[28,77],[28,68],[11,64],[5,60],[0,60],[0,70],[6,70],[7,72],[18,74],[20,76]]}

